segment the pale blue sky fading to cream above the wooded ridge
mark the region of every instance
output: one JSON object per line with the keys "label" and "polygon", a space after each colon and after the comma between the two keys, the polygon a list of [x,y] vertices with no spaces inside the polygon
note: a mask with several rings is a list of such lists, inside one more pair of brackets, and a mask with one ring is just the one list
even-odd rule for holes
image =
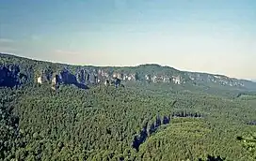
{"label": "pale blue sky fading to cream above the wooded ridge", "polygon": [[0,52],[256,78],[255,0],[0,0]]}

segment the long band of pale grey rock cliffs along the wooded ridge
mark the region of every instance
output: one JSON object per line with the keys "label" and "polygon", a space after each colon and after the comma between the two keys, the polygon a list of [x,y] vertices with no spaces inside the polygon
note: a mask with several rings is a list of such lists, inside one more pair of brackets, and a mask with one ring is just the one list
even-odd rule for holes
{"label": "long band of pale grey rock cliffs along the wooded ridge", "polygon": [[[48,72],[53,73],[54,71]],[[214,83],[222,86],[235,86],[235,87],[244,87],[244,83],[240,80],[231,79],[226,76],[210,75],[210,74],[200,74],[200,73],[189,73],[181,72],[179,74],[163,74],[161,72],[153,72],[148,74],[141,74],[140,77],[136,76],[137,72],[120,72],[120,71],[109,71],[107,69],[88,69],[76,68],[76,72],[68,69],[63,69],[57,74],[56,84],[74,84],[76,86],[84,85],[96,85],[99,83],[104,83],[105,80],[119,79],[121,81],[148,81],[152,83],[175,83],[175,84],[184,84],[189,82],[194,83]],[[147,71],[146,71],[147,72]],[[42,75],[38,79],[39,83],[42,83],[42,80],[53,80],[52,76],[42,72]]]}

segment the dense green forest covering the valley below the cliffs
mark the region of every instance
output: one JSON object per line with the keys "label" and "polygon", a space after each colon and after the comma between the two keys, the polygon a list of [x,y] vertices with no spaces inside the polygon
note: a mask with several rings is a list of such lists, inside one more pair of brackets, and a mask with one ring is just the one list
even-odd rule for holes
{"label": "dense green forest covering the valley below the cliffs", "polygon": [[53,90],[29,78],[64,65],[1,64],[21,66],[22,81],[0,81],[0,160],[256,160],[253,92],[151,82]]}

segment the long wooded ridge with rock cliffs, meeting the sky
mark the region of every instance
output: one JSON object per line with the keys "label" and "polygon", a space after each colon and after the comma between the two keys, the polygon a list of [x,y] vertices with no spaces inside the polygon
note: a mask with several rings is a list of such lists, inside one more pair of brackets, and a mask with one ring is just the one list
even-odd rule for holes
{"label": "long wooded ridge with rock cliffs, meeting the sky", "polygon": [[[72,66],[32,60],[11,54],[0,54],[1,72],[15,73],[11,66],[16,66],[18,75],[10,86],[22,81],[21,76],[29,82],[53,82],[56,84],[74,84],[78,87],[103,83],[105,80],[118,78],[122,82],[145,81],[149,83],[170,83],[177,85],[204,86],[209,88],[227,88],[239,90],[256,90],[256,82],[238,80],[224,75],[177,70],[170,66],[146,64],[139,66]],[[6,66],[7,69],[4,69]],[[13,70],[13,71],[12,71]],[[19,70],[19,72],[18,72]],[[7,73],[6,73],[7,74]],[[1,76],[4,77],[4,76]],[[7,78],[6,78],[7,79]],[[16,82],[17,81],[17,82]],[[58,81],[58,82],[57,82]],[[2,78],[2,85],[5,84]],[[0,82],[1,84],[1,82]]]}

